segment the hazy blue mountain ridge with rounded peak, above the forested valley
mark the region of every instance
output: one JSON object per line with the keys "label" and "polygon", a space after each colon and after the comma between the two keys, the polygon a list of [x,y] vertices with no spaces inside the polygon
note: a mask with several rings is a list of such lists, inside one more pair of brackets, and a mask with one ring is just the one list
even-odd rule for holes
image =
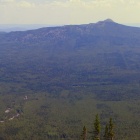
{"label": "hazy blue mountain ridge with rounded peak, above the forested valley", "polygon": [[45,27],[36,30],[17,31],[3,34],[1,41],[22,43],[46,42],[50,45],[63,45],[67,42],[71,47],[87,44],[95,45],[138,45],[140,44],[140,28],[121,25],[110,19],[85,25],[67,25],[61,27]]}

